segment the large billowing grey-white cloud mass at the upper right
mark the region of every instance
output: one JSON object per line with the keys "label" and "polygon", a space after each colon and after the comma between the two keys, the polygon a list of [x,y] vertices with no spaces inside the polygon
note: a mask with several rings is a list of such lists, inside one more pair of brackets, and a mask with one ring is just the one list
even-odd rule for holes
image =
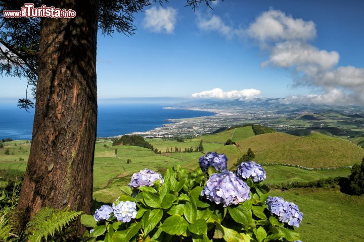
{"label": "large billowing grey-white cloud mass at the upper right", "polygon": [[284,103],[363,104],[364,68],[338,66],[340,54],[317,48],[314,22],[296,19],[280,10],[259,15],[246,29],[226,25],[216,15],[197,18],[202,31],[217,31],[227,39],[250,38],[268,53],[261,67],[283,68],[291,73],[293,87],[308,86],[318,94],[288,96]]}

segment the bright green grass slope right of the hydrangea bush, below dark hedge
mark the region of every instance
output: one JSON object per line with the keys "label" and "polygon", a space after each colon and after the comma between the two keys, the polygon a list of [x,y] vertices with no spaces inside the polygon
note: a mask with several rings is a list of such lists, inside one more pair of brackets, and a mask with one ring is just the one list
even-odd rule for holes
{"label": "bright green grass slope right of the hydrangea bush, below dark hedge", "polygon": [[349,196],[337,189],[273,190],[270,194],[294,202],[303,212],[302,223],[295,228],[302,241],[364,240],[364,195]]}

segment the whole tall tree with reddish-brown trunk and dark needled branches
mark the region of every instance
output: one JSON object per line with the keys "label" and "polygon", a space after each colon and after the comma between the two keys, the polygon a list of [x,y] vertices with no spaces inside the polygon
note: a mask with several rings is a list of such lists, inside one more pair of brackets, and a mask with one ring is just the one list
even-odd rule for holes
{"label": "whole tall tree with reddish-brown trunk and dark needled branches", "polygon": [[[205,2],[209,6],[209,1],[187,0],[187,5],[196,8]],[[26,2],[2,1],[0,12],[20,10]],[[1,19],[0,73],[25,77],[35,94],[32,143],[17,208],[18,228],[45,206],[90,213],[97,124],[97,31],[132,34],[133,14],[151,4],[149,0],[33,3],[35,7],[72,9],[77,15],[43,18],[40,25],[39,19],[33,18]],[[33,105],[28,97],[19,100],[20,107]],[[79,223],[76,229],[82,233]]]}

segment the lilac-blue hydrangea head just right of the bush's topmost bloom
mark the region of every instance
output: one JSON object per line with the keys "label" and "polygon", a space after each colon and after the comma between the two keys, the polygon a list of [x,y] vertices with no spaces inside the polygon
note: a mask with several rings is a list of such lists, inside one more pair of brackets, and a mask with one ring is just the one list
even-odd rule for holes
{"label": "lilac-blue hydrangea head just right of the bush's topmost bloom", "polygon": [[266,179],[265,170],[261,165],[255,163],[254,161],[241,163],[237,167],[236,174],[242,179],[248,179],[251,177],[254,183],[259,183],[259,181]]}

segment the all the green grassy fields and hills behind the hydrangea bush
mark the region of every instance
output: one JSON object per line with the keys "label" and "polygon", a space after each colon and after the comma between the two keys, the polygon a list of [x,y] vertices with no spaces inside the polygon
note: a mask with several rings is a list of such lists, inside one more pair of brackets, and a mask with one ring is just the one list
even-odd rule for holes
{"label": "all the green grassy fields and hills behind the hydrangea bush", "polygon": [[[299,121],[299,120],[298,120]],[[175,149],[196,147],[203,140],[204,152],[166,152],[168,147]],[[224,146],[232,139],[237,146]],[[184,142],[168,139],[146,139],[162,151],[153,151],[136,146],[112,146],[112,141],[98,139],[94,162],[94,199],[111,203],[119,195],[119,187],[129,183],[130,176],[150,168],[163,172],[168,166],[180,164],[194,169],[204,153],[216,151],[228,156],[228,167],[234,168],[236,160],[251,148],[257,162],[299,164],[305,167],[339,167],[359,163],[364,157],[364,149],[346,140],[311,134],[304,137],[284,133],[270,133],[254,136],[251,127],[236,128],[214,135],[204,135]],[[358,140],[360,142],[360,140]],[[16,145],[15,145],[16,144]],[[6,142],[0,148],[0,168],[25,170],[30,142]],[[104,147],[106,145],[106,147]],[[5,154],[9,149],[10,154]],[[115,149],[117,154],[115,155]],[[23,158],[24,161],[19,161]],[[131,162],[127,163],[130,159]],[[282,165],[264,166],[267,173],[266,184],[281,184],[296,181],[313,181],[328,177],[347,177],[350,170],[305,170]],[[342,194],[338,189],[291,189],[274,190],[272,195],[296,203],[304,213],[304,220],[298,231],[302,241],[363,241],[364,196],[355,197]],[[334,222],[333,222],[334,221]],[[348,226],[346,226],[348,225]]]}

